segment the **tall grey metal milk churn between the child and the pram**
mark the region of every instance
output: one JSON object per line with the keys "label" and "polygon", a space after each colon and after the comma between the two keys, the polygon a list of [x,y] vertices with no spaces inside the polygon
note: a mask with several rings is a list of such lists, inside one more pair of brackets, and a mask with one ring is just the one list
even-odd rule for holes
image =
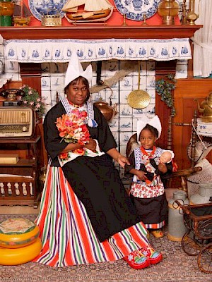
{"label": "tall grey metal milk churn between the child and the pram", "polygon": [[168,202],[168,232],[167,238],[171,241],[181,241],[187,228],[184,225],[183,212],[179,205],[189,204],[187,193],[182,190],[177,190],[173,193],[173,198]]}

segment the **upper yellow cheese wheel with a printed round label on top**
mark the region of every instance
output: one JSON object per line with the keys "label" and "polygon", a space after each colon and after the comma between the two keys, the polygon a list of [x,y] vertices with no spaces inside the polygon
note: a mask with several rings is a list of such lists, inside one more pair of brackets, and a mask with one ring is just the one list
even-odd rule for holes
{"label": "upper yellow cheese wheel with a printed round label on top", "polygon": [[29,219],[6,219],[0,222],[0,247],[16,249],[30,245],[39,233],[37,224]]}

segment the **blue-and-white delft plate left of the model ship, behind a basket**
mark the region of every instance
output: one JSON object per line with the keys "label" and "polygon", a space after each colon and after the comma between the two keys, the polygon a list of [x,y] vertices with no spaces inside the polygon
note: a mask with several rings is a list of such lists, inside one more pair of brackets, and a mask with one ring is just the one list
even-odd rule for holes
{"label": "blue-and-white delft plate left of the model ship, behind a basket", "polygon": [[46,15],[64,16],[61,9],[65,2],[66,0],[28,0],[30,11],[37,20]]}

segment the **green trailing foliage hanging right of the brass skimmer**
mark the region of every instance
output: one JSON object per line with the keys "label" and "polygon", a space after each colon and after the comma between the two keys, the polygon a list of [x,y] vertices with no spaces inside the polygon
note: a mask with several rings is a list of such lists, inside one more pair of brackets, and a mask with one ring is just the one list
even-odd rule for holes
{"label": "green trailing foliage hanging right of the brass skimmer", "polygon": [[168,74],[167,78],[161,78],[155,82],[155,92],[160,95],[161,101],[171,108],[171,116],[176,115],[173,90],[175,89],[175,75]]}

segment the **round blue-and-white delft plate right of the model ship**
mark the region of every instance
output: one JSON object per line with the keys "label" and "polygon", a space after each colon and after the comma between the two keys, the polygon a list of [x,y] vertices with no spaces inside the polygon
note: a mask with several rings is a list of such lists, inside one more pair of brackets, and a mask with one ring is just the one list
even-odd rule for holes
{"label": "round blue-and-white delft plate right of the model ship", "polygon": [[117,10],[122,15],[126,15],[129,20],[143,20],[143,14],[146,18],[151,18],[157,13],[160,0],[114,0]]}

